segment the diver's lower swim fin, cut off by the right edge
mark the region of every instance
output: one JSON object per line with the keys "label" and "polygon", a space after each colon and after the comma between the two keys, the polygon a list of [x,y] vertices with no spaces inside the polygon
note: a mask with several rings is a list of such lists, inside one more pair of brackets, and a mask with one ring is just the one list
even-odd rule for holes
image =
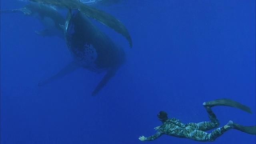
{"label": "diver's lower swim fin, cut off by the right edge", "polygon": [[242,126],[230,120],[228,125],[236,130],[240,130],[242,132],[246,132],[247,134],[256,134],[256,126]]}

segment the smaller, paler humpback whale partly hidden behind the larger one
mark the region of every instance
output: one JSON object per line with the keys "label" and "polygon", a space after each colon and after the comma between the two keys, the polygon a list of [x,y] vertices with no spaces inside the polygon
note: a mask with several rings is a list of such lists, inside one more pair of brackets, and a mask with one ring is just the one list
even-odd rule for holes
{"label": "smaller, paler humpback whale partly hidden behind the larger one", "polygon": [[13,10],[1,10],[3,13],[22,12],[24,15],[33,16],[44,25],[44,30],[35,31],[40,36],[58,36],[64,39],[65,18],[52,6],[40,3],[29,3],[23,8]]}

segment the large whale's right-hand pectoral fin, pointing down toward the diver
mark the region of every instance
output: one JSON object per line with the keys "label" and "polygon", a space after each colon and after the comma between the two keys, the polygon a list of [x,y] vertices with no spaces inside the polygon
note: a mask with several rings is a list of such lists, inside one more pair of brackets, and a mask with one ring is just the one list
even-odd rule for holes
{"label": "large whale's right-hand pectoral fin, pointing down toward the diver", "polygon": [[92,96],[95,96],[96,94],[98,94],[98,92],[103,88],[103,86],[105,86],[107,84],[108,80],[110,80],[110,78],[112,78],[116,74],[117,69],[118,68],[112,68],[112,69],[108,70],[108,72],[102,78],[100,83],[96,86],[96,88],[92,92]]}

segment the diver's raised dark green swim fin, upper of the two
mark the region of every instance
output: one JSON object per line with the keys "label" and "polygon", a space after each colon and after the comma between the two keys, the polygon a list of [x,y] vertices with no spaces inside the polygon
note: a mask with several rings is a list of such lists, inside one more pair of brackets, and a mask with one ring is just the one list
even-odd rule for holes
{"label": "diver's raised dark green swim fin, upper of the two", "polygon": [[218,100],[212,100],[209,102],[204,102],[203,105],[206,106],[232,106],[234,108],[239,108],[241,110],[244,110],[250,114],[252,114],[251,109],[248,106],[245,106],[239,102],[236,102],[234,100],[230,100],[230,99],[226,99],[226,98],[222,98],[222,99],[218,99]]}

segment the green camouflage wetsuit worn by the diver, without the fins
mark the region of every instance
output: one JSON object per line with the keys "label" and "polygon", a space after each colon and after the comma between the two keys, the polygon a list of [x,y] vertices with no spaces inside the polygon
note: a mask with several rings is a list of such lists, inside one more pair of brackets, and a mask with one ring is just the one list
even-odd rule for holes
{"label": "green camouflage wetsuit worn by the diver, without the fins", "polygon": [[214,141],[217,137],[221,136],[226,130],[223,127],[213,130],[211,133],[204,131],[211,130],[219,126],[219,121],[217,120],[215,114],[212,110],[208,111],[208,116],[211,122],[199,122],[199,123],[188,123],[183,124],[180,120],[176,118],[168,118],[160,126],[160,129],[156,134],[146,137],[145,140],[155,140],[162,136],[162,134],[167,134],[170,136],[176,136],[180,138],[190,138],[196,141]]}

